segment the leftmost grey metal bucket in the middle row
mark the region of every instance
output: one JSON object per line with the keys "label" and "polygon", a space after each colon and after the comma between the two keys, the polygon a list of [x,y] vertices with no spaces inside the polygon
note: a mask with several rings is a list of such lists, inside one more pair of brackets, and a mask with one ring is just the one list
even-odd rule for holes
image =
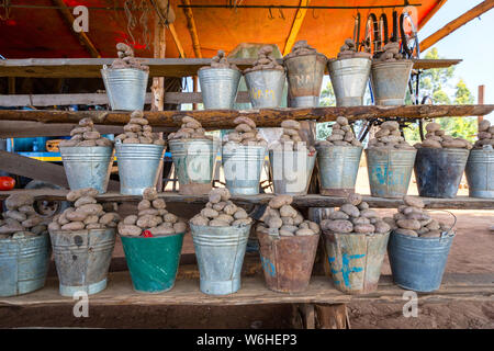
{"label": "leftmost grey metal bucket in the middle row", "polygon": [[93,188],[106,192],[113,163],[113,147],[60,146],[61,160],[70,190]]}

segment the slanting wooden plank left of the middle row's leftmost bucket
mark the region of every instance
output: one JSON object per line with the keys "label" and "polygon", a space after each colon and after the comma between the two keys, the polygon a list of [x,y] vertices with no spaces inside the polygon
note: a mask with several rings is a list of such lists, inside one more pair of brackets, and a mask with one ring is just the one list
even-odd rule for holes
{"label": "slanting wooden plank left of the middle row's leftmost bucket", "polygon": [[[69,188],[63,166],[38,161],[16,154],[0,150],[0,170]],[[110,180],[108,186],[110,190],[117,190],[120,183]]]}

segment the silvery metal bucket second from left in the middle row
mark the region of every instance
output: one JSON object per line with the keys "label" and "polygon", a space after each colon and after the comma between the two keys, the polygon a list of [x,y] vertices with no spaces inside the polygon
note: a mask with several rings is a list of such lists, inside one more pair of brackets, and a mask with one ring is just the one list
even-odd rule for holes
{"label": "silvery metal bucket second from left in the middle row", "polygon": [[165,146],[153,144],[115,144],[120,193],[142,195],[155,188],[162,167]]}

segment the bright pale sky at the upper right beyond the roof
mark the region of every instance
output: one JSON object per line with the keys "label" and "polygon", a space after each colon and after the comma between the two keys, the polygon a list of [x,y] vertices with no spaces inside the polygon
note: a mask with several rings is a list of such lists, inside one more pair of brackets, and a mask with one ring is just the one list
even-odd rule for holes
{"label": "bright pale sky at the upper right beyond the roof", "polygon": [[[435,33],[450,21],[460,16],[482,0],[448,0],[418,32],[419,41]],[[478,87],[484,84],[484,103],[494,103],[494,9],[482,14],[452,32],[433,47],[442,58],[461,58],[456,66],[453,83],[460,78],[473,93],[475,103]],[[427,52],[423,53],[424,57]],[[494,122],[494,113],[489,120]]]}

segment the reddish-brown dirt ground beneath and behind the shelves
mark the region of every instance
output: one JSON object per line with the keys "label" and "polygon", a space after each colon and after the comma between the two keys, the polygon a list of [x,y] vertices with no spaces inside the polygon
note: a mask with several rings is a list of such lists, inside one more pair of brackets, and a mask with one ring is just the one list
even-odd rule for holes
{"label": "reddish-brown dirt ground beneath and behind the shelves", "polygon": [[[459,195],[468,195],[468,189],[461,186]],[[359,171],[357,191],[369,194],[367,170]],[[417,194],[414,180],[409,194]],[[128,212],[125,205],[121,208]],[[190,211],[183,206],[169,210],[183,214]],[[199,207],[198,207],[199,211]],[[391,214],[393,210],[379,210]],[[457,217],[457,236],[449,256],[447,272],[457,273],[492,273],[494,280],[494,225],[493,211],[451,211]],[[435,211],[434,216],[452,223],[449,213]],[[190,235],[186,236],[182,253],[192,253],[193,245]],[[123,257],[117,242],[115,257]],[[391,274],[385,258],[382,273]],[[351,303],[348,313],[352,328],[494,328],[494,299],[489,303],[458,302],[448,304],[420,304],[418,317],[405,318],[403,304],[388,303]],[[291,328],[292,308],[290,305],[236,306],[236,307],[156,307],[127,306],[94,307],[90,317],[76,319],[70,308],[7,308],[0,307],[0,328],[9,327],[91,327],[91,328]]]}

